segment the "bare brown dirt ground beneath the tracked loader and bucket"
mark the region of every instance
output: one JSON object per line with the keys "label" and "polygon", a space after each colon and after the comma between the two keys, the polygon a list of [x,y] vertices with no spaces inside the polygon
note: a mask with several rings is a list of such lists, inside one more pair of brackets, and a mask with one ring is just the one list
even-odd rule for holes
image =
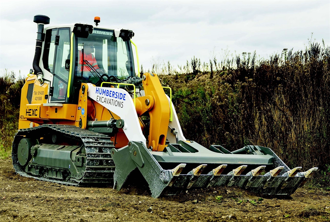
{"label": "bare brown dirt ground beneath the tracked loader and bucket", "polygon": [[330,221],[330,192],[299,188],[289,199],[262,200],[220,187],[153,199],[145,186],[118,192],[20,177],[1,159],[0,221]]}

